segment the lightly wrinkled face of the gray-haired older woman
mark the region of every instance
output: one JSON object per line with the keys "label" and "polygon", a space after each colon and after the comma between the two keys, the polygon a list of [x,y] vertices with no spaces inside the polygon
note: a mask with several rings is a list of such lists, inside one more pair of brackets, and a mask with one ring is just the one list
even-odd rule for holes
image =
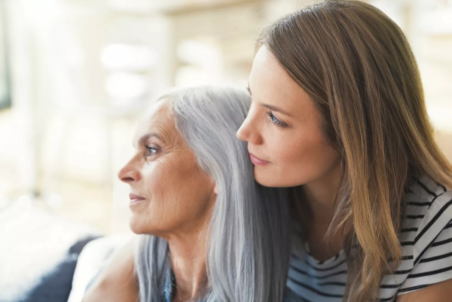
{"label": "lightly wrinkled face of the gray-haired older woman", "polygon": [[175,129],[169,108],[168,101],[159,101],[141,120],[136,153],[118,174],[131,187],[130,226],[137,234],[199,230],[215,201],[215,185]]}

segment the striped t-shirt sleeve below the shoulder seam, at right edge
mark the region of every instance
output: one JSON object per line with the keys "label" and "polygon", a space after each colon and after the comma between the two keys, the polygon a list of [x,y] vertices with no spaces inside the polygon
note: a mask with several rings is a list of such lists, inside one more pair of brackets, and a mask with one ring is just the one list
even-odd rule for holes
{"label": "striped t-shirt sleeve below the shoulder seam, at right edge", "polygon": [[413,268],[397,295],[452,279],[452,191],[428,207],[414,242]]}

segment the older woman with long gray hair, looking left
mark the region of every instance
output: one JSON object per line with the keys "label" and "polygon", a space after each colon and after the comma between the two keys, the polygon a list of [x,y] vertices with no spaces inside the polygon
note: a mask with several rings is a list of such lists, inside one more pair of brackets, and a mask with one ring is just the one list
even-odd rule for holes
{"label": "older woman with long gray hair, looking left", "polygon": [[286,202],[254,182],[235,137],[249,106],[245,91],[213,87],[176,90],[152,106],[118,175],[131,187],[131,229],[142,234],[134,261],[127,244],[85,302],[290,296]]}

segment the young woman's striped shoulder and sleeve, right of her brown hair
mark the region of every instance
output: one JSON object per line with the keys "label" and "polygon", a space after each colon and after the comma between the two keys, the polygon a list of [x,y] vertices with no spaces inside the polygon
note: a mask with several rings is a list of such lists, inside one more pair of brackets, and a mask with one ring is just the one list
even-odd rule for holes
{"label": "young woman's striped shoulder and sleeve, right of her brown hair", "polygon": [[[402,263],[395,277],[397,294],[452,279],[452,190],[420,177],[407,192],[400,232]],[[389,278],[388,282],[389,281]],[[383,282],[384,284],[384,282]]]}

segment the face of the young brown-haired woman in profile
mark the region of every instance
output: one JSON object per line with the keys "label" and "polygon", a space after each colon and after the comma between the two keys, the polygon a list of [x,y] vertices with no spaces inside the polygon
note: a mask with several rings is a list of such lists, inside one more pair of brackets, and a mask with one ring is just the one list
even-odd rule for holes
{"label": "face of the young brown-haired woman in profile", "polygon": [[257,182],[298,186],[337,168],[339,155],[325,142],[313,101],[265,47],[254,58],[249,90],[253,102],[237,137],[248,142]]}

